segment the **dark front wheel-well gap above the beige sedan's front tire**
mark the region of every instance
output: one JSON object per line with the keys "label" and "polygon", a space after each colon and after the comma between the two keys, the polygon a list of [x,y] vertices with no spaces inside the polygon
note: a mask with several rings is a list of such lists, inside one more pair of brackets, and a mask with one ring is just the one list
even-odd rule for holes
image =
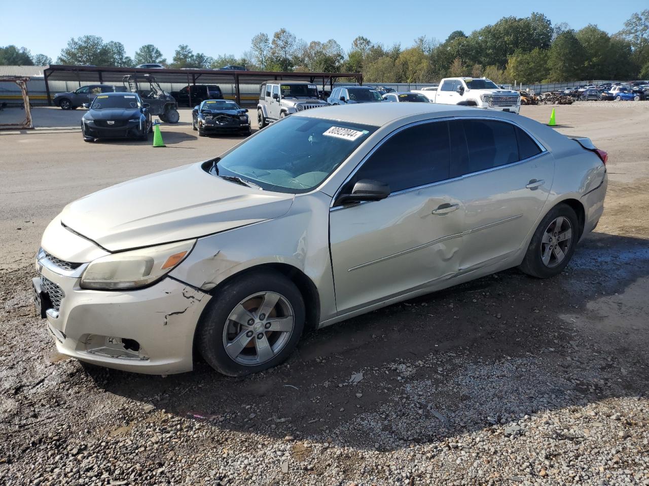
{"label": "dark front wheel-well gap above the beige sedan's front tire", "polygon": [[304,322],[304,329],[313,330],[317,329],[318,324],[320,323],[320,294],[318,292],[317,286],[313,283],[312,279],[302,272],[299,268],[290,265],[288,263],[262,263],[255,266],[241,270],[241,272],[234,273],[219,282],[217,286],[212,288],[208,294],[212,297],[218,297],[219,291],[223,286],[230,283],[234,279],[241,277],[247,273],[259,272],[260,270],[272,270],[273,272],[281,273],[284,277],[288,278],[291,282],[295,284],[297,290],[302,294],[302,299],[304,299],[304,308],[306,311],[306,320]]}

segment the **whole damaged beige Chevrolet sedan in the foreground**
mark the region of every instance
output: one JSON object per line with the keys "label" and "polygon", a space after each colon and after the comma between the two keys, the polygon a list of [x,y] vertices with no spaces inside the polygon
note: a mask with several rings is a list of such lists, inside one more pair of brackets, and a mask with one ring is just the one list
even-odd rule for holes
{"label": "whole damaged beige Chevrolet sedan in the foreground", "polygon": [[559,275],[602,214],[606,160],[511,113],[296,113],[67,205],[34,295],[60,353],[153,374],[202,356],[246,375],[308,329],[511,267]]}

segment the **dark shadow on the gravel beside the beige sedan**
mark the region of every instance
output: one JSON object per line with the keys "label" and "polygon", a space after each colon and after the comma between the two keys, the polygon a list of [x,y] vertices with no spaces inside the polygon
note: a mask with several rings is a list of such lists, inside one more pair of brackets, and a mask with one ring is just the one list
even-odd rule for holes
{"label": "dark shadow on the gravel beside the beige sedan", "polygon": [[553,279],[512,269],[391,305],[311,332],[258,375],[228,378],[202,362],[166,377],[86,370],[105,391],[221,430],[394,450],[646,393],[646,319],[622,311],[615,334],[595,339],[589,319],[594,303],[632,295],[648,275],[647,240],[594,233]]}

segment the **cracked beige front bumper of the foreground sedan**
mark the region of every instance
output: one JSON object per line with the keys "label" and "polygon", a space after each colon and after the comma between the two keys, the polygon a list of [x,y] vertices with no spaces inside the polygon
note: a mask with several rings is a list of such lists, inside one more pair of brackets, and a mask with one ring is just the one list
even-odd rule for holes
{"label": "cracked beige front bumper of the foreground sedan", "polygon": [[169,277],[130,292],[85,290],[78,276],[52,268],[51,262],[37,262],[34,287],[52,292],[54,285],[60,292],[58,309],[58,299],[45,299],[51,307],[47,327],[59,353],[136,373],[191,371],[194,332],[210,295]]}

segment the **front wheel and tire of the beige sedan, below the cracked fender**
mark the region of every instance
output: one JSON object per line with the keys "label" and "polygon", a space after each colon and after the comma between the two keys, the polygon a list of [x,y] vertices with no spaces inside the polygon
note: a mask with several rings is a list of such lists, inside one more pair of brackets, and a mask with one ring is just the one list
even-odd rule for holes
{"label": "front wheel and tire of the beige sedan, below the cracked fender", "polygon": [[270,270],[225,284],[199,322],[204,360],[228,376],[258,373],[282,363],[304,329],[304,300],[293,282]]}

